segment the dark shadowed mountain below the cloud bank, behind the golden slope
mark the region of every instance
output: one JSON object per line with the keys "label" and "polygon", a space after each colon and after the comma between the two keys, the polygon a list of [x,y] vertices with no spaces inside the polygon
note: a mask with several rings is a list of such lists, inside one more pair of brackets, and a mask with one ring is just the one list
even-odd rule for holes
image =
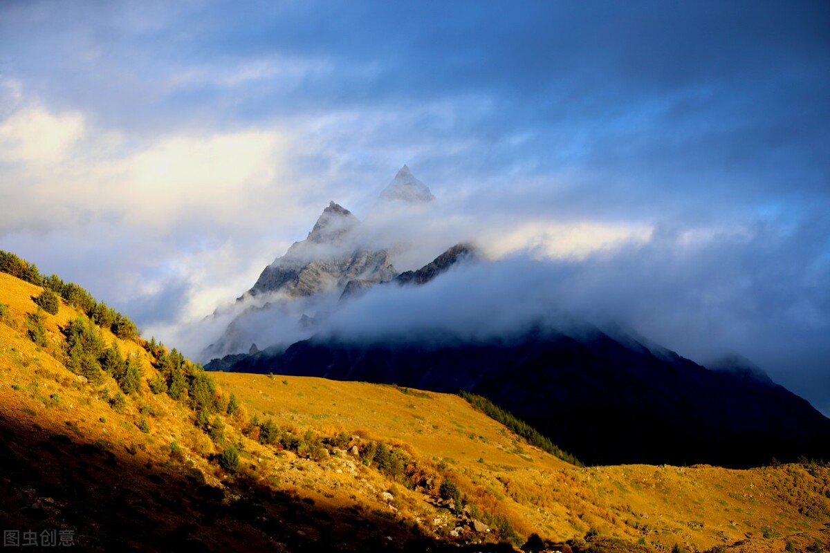
{"label": "dark shadowed mountain below the cloud bank, behind the golden slope", "polygon": [[488,343],[311,339],[231,370],[471,391],[584,463],[748,467],[773,457],[830,458],[830,420],[783,387],[657,357],[595,329]]}

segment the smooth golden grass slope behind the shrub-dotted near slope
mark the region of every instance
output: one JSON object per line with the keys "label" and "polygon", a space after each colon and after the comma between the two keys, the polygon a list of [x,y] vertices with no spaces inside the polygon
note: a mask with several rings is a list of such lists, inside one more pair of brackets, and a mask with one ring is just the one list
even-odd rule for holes
{"label": "smooth golden grass slope behind the shrub-dotted near slope", "polygon": [[215,377],[260,418],[410,444],[552,539],[596,528],[600,536],[658,550],[678,544],[688,551],[784,551],[787,541],[830,543],[830,476],[818,465],[577,468],[523,444],[456,395],[299,376]]}

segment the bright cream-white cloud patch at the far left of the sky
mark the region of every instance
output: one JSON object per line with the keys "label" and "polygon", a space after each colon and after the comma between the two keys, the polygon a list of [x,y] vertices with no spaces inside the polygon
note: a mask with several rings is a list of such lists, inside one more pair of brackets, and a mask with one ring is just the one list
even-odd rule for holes
{"label": "bright cream-white cloud patch at the far left of the sky", "polygon": [[194,219],[261,223],[267,206],[301,200],[283,170],[289,142],[284,129],[242,129],[136,143],[78,112],[19,109],[0,123],[0,199],[17,206],[0,233],[73,226],[87,215],[159,232]]}

